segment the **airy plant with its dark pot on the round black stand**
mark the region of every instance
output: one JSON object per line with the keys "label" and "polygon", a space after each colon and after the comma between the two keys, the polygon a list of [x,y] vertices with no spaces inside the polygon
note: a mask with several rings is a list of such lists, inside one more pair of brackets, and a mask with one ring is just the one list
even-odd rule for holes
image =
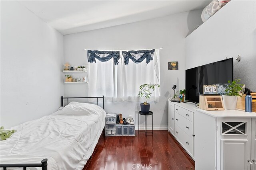
{"label": "airy plant with its dark pot on the round black stand", "polygon": [[147,114],[149,113],[150,110],[150,104],[148,104],[148,99],[151,96],[151,92],[150,90],[152,89],[153,91],[155,90],[155,87],[160,87],[159,84],[143,84],[140,86],[140,91],[138,96],[140,98],[145,98],[145,102],[140,104],[140,109],[141,109],[141,113]]}

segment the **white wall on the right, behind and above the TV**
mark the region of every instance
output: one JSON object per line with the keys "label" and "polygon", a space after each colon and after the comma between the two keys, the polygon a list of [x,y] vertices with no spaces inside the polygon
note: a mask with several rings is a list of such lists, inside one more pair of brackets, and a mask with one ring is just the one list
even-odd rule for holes
{"label": "white wall on the right, behind and above the TV", "polygon": [[234,78],[256,92],[255,11],[256,1],[232,0],[186,37],[186,69],[234,57]]}

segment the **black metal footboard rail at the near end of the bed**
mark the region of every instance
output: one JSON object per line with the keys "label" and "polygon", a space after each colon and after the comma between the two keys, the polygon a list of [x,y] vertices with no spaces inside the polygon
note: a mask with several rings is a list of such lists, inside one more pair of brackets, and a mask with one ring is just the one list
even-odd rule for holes
{"label": "black metal footboard rail at the near end of the bed", "polygon": [[1,168],[4,168],[4,170],[7,170],[6,168],[23,168],[23,170],[26,170],[28,167],[42,167],[42,170],[47,170],[47,160],[43,159],[41,161],[41,164],[0,164]]}

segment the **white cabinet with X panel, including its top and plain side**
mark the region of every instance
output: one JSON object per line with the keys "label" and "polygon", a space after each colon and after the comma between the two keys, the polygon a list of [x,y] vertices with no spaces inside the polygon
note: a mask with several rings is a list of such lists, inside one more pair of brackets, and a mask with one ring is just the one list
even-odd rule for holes
{"label": "white cabinet with X panel, including its top and plain side", "polygon": [[194,112],[195,169],[256,170],[256,113]]}

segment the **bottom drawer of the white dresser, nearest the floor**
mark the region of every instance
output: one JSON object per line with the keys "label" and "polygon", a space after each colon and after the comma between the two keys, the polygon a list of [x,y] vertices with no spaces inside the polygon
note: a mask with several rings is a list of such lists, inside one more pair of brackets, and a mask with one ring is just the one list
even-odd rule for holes
{"label": "bottom drawer of the white dresser, nearest the floor", "polygon": [[178,125],[175,124],[175,136],[182,143],[184,149],[193,155],[193,138],[188,136]]}

